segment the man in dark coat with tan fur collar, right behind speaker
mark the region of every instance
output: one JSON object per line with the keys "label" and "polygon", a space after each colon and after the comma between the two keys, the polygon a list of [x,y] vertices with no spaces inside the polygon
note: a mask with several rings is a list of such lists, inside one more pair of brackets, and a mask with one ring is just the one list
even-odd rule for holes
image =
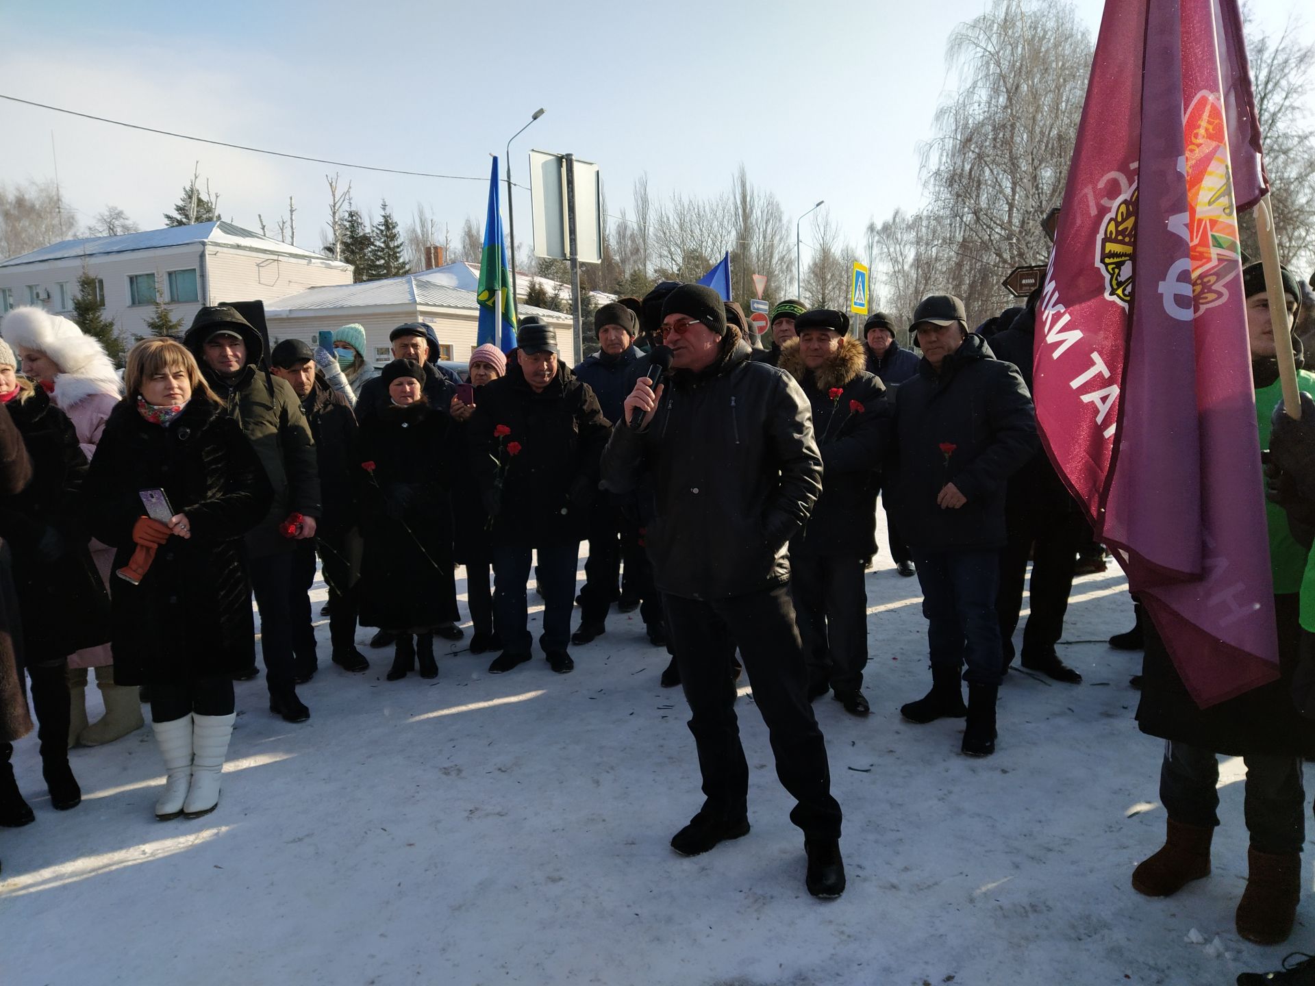
{"label": "man in dark coat with tan fur collar, right behind speaker", "polygon": [[822,452],[822,496],[790,539],[790,596],[809,659],[809,695],[830,688],[847,711],[867,715],[863,572],[877,550],[876,488],[869,480],[885,451],[890,410],[885,384],[864,369],[863,343],[847,335],[843,312],[805,312],[794,327],[798,339],[781,347],[777,365],[803,388]]}

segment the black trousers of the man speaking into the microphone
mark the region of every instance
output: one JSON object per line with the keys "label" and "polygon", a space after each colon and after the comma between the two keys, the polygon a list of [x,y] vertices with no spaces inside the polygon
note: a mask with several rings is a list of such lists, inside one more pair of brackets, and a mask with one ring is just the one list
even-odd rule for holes
{"label": "black trousers of the man speaking into the microphone", "polygon": [[771,735],[776,776],[797,802],[790,822],[807,837],[839,839],[840,806],[831,797],[826,740],[809,705],[789,589],[778,585],[710,601],[668,594],[663,603],[704,776],[704,811],[738,818],[748,806],[748,764],[735,718],[735,682],[727,673],[739,647]]}

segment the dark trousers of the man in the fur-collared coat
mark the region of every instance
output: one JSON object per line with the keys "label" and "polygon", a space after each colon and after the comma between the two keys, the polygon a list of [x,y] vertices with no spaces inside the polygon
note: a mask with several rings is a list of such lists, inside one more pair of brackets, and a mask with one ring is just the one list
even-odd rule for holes
{"label": "dark trousers of the man in the fur-collared coat", "polygon": [[790,598],[810,681],[836,694],[863,688],[868,664],[867,559],[790,553]]}

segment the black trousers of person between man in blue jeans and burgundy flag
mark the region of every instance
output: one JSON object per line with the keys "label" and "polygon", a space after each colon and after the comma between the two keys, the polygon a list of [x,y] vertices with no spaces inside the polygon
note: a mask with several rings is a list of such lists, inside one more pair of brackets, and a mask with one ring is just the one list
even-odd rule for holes
{"label": "black trousers of person between man in blue jeans and burgundy flag", "polygon": [[1023,628],[1023,656],[1041,657],[1064,635],[1064,614],[1073,589],[1073,569],[1086,521],[1076,510],[1045,509],[1011,502],[1005,509],[1009,544],[999,555],[999,590],[995,615],[1005,648],[1005,667],[1014,660],[1014,631],[1023,607],[1027,555],[1032,555],[1031,614]]}

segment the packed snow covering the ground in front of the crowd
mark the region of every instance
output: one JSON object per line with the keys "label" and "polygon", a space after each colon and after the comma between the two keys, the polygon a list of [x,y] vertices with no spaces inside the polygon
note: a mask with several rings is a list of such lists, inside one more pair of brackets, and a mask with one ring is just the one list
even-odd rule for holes
{"label": "packed snow covering the ground in front of the crowd", "polygon": [[321,672],[300,689],[310,722],[271,715],[262,681],[238,685],[205,818],[155,820],[149,728],[72,752],[84,799],[70,812],[50,809],[36,738],[17,744],[37,822],[0,830],[0,982],[1195,985],[1315,951],[1308,893],[1287,945],[1233,931],[1240,761],[1224,763],[1214,876],[1168,901],[1130,887],[1164,810],[1162,744],[1132,720],[1139,656],[1105,646],[1130,626],[1124,589],[1112,568],[1077,582],[1063,651],[1086,681],[1011,673],[998,752],[970,760],[963,720],[898,715],[928,685],[926,627],[917,580],[882,547],[868,573],[873,714],[817,702],[846,811],[835,902],[803,889],[751,694],[752,832],[696,858],[671,851],[702,795],[684,699],[659,686],[667,655],[638,614],[572,648],[573,674],[537,655],[490,676],[492,655],[458,651],[437,682],[384,681],[381,651],[366,674],[339,670],[322,623]]}

